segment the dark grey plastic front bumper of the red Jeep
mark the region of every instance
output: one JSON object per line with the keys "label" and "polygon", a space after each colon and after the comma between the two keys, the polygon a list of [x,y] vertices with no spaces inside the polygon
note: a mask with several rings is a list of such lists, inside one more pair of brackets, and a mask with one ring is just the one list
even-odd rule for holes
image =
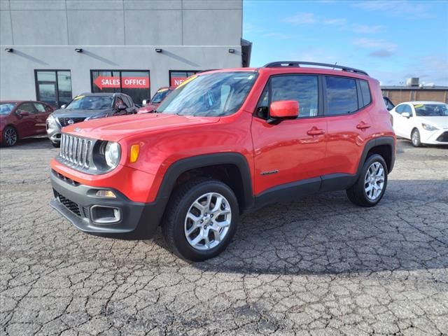
{"label": "dark grey plastic front bumper of the red Jeep", "polygon": [[[149,239],[162,218],[163,207],[158,202],[132,202],[118,190],[85,186],[53,170],[50,180],[55,194],[50,206],[83,232],[103,237]],[[98,197],[97,190],[112,190],[116,198]],[[92,216],[94,206],[119,209],[120,221],[96,223]]]}

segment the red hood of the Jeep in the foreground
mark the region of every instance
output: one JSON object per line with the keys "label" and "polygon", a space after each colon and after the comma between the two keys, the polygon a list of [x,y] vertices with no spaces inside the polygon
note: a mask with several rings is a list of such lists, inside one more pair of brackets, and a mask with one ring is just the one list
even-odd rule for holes
{"label": "red hood of the Jeep in the foreground", "polygon": [[219,117],[177,116],[176,114],[164,113],[134,114],[88,120],[64,127],[64,132],[79,137],[120,141],[130,135],[217,123],[219,119]]}

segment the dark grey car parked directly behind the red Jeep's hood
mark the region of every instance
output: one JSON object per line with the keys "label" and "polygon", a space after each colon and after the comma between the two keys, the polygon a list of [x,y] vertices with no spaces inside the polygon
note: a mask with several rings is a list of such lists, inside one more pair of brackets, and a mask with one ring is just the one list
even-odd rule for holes
{"label": "dark grey car parked directly behind the red Jeep's hood", "polygon": [[47,118],[47,134],[51,144],[59,147],[61,129],[85,120],[137,113],[132,98],[124,93],[83,93]]}

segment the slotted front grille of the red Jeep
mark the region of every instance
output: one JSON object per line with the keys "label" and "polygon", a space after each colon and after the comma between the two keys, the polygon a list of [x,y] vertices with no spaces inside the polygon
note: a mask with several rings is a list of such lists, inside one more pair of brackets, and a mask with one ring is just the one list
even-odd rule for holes
{"label": "slotted front grille of the red Jeep", "polygon": [[93,141],[62,134],[59,156],[70,165],[79,168],[90,167]]}

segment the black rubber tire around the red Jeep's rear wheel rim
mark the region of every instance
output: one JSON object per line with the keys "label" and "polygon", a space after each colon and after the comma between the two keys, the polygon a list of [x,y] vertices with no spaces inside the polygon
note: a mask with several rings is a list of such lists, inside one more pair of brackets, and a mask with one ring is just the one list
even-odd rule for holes
{"label": "black rubber tire around the red Jeep's rear wheel rim", "polygon": [[[365,176],[367,176],[367,170],[374,162],[379,162],[384,169],[384,186],[379,196],[374,200],[371,200],[369,197],[367,197],[367,193],[365,191]],[[356,183],[346,190],[347,197],[349,197],[349,200],[353,204],[356,204],[360,207],[374,207],[378,204],[379,201],[381,201],[381,198],[383,198],[384,196],[384,192],[386,191],[387,187],[387,176],[388,170],[384,158],[378,154],[371,155],[369,158],[367,158],[367,160],[365,160],[363,169],[361,169]]]}

